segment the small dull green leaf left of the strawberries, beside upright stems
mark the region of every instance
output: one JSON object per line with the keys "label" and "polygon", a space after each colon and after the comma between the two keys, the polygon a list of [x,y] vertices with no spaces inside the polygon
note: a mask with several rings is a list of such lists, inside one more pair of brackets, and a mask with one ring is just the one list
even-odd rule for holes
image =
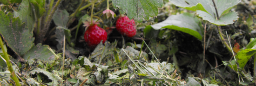
{"label": "small dull green leaf left of the strawberries, beside upright stems", "polygon": [[68,17],[69,13],[66,10],[57,10],[53,16],[55,25],[66,27],[69,19]]}

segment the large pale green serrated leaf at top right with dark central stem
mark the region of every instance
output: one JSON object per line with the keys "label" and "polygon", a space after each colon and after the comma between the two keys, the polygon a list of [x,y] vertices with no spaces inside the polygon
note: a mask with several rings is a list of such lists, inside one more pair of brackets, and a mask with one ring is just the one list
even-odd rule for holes
{"label": "large pale green serrated leaf at top right with dark central stem", "polygon": [[[229,12],[229,10],[238,4],[241,0],[215,0],[219,20],[216,19],[216,10],[212,0],[169,0],[176,6],[185,8],[187,10],[196,11],[200,17],[215,24],[215,25],[229,25],[234,23],[238,18],[236,12]],[[226,14],[227,13],[227,14]]]}

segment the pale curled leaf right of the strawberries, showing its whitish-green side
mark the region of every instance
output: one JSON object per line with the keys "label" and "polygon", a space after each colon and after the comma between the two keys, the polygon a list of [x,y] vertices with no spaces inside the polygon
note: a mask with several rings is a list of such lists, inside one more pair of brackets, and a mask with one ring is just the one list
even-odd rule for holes
{"label": "pale curled leaf right of the strawberries, showing its whitish-green side", "polygon": [[147,26],[145,29],[154,28],[159,30],[168,28],[172,30],[182,31],[188,33],[200,40],[202,40],[202,25],[197,17],[193,17],[190,13],[182,13],[179,15],[171,15],[166,20],[155,25]]}

